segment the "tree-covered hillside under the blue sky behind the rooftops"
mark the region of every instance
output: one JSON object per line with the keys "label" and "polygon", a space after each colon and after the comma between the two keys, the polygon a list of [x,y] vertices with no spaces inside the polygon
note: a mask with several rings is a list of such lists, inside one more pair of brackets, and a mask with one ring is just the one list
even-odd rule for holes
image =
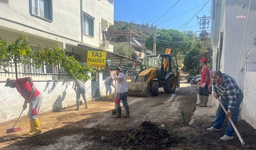
{"label": "tree-covered hillside under the blue sky behind the rooftops", "polygon": [[[114,21],[114,26],[110,26],[108,30],[126,30],[126,26],[128,26],[128,30],[132,30],[136,34],[140,36],[140,38],[136,38],[139,42],[144,43],[145,39],[153,33],[153,29],[149,28],[149,24],[134,24],[133,22],[124,22],[124,21]],[[123,42],[127,41],[126,37],[120,37],[113,39],[115,42]]]}

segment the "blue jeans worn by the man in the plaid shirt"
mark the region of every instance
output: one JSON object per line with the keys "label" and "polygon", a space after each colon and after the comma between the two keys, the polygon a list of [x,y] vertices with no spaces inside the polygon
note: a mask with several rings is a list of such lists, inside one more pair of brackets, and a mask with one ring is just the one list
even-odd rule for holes
{"label": "blue jeans worn by the man in the plaid shirt", "polygon": [[[240,104],[243,101],[243,98],[244,98],[243,93],[236,95],[236,104],[234,106],[234,109],[231,112],[231,114],[232,114],[231,119],[234,122],[234,124],[236,124],[236,120],[237,120],[238,114],[239,114]],[[227,110],[228,109],[228,100],[224,100],[224,99],[220,98],[220,102],[224,105],[224,107]],[[222,107],[219,106],[217,113],[216,113],[216,120],[212,126],[216,129],[220,129],[225,118],[226,118],[226,114],[225,114],[224,110],[222,109]],[[232,127],[230,121],[228,120],[225,135],[232,136],[233,133],[234,133],[234,128]]]}

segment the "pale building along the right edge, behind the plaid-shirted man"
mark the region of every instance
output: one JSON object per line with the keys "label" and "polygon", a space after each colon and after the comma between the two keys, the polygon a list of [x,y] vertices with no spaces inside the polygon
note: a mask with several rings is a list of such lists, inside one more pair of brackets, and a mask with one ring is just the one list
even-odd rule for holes
{"label": "pale building along the right edge, behind the plaid-shirted man", "polygon": [[212,0],[213,70],[244,93],[241,118],[256,128],[256,1]]}

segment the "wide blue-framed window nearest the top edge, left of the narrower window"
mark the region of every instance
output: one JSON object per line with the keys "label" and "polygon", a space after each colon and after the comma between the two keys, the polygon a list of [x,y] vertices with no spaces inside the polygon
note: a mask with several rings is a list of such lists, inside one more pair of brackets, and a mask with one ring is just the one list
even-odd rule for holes
{"label": "wide blue-framed window nearest the top edge, left of the narrower window", "polygon": [[52,0],[30,0],[30,14],[52,21]]}

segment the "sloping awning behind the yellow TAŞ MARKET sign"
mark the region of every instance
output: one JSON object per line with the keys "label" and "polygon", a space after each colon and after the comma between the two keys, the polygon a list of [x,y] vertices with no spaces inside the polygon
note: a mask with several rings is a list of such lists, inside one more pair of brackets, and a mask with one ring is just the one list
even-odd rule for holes
{"label": "sloping awning behind the yellow TA\u015e MARKET sign", "polygon": [[[78,44],[78,46],[86,48],[87,50],[106,52],[106,51],[100,50],[98,48],[92,48],[92,47],[82,45],[82,44]],[[116,54],[114,52],[107,52],[107,59],[111,60],[111,64],[132,64],[132,63],[142,64],[142,62],[140,62],[138,60],[134,60],[132,58],[128,58],[126,56],[122,56],[122,55]]]}

